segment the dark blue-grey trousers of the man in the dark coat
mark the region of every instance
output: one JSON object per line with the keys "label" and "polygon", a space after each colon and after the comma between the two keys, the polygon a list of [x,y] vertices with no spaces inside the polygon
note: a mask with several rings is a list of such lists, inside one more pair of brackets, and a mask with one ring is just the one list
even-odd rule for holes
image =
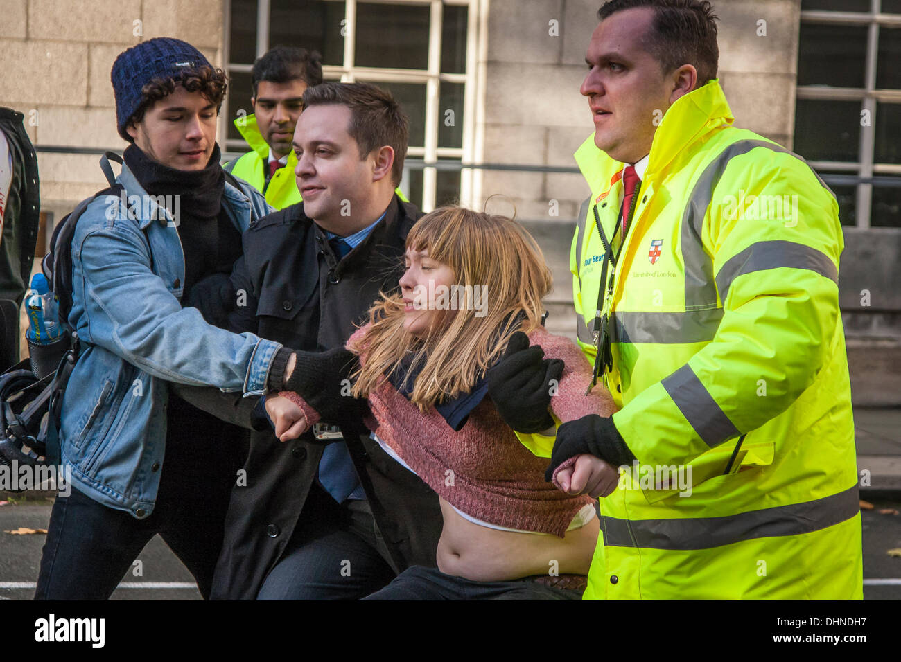
{"label": "dark blue-grey trousers of the man in the dark coat", "polygon": [[287,548],[258,600],[359,600],[394,579],[369,503],[335,503],[312,485]]}

